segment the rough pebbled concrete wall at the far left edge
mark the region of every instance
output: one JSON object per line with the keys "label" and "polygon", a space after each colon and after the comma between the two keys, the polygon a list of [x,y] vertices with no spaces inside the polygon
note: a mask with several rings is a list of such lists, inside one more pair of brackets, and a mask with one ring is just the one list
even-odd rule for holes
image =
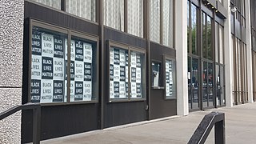
{"label": "rough pebbled concrete wall at the far left edge", "polygon": [[[0,1],[0,113],[22,103],[24,1]],[[0,121],[0,143],[21,143],[21,112]]]}

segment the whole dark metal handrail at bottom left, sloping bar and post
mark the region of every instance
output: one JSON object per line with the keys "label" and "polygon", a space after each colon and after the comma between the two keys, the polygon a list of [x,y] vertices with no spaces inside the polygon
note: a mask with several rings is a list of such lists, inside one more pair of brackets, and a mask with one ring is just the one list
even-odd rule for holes
{"label": "whole dark metal handrail at bottom left, sloping bar and post", "polygon": [[33,143],[40,143],[40,131],[41,131],[41,105],[38,103],[26,103],[20,106],[14,106],[9,110],[5,110],[0,113],[0,121],[3,118],[16,113],[19,110],[33,110]]}

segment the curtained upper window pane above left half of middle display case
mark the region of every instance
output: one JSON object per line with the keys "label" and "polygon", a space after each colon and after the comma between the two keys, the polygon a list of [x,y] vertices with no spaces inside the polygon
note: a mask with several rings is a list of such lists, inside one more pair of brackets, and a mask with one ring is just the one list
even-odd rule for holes
{"label": "curtained upper window pane above left half of middle display case", "polygon": [[124,0],[104,0],[104,25],[124,31]]}

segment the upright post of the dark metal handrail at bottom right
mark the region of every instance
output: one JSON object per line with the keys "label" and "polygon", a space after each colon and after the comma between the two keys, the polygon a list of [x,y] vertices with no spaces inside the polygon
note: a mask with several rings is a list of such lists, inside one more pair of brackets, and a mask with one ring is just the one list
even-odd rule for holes
{"label": "upright post of the dark metal handrail at bottom right", "polygon": [[222,121],[214,125],[215,144],[225,144],[225,116]]}

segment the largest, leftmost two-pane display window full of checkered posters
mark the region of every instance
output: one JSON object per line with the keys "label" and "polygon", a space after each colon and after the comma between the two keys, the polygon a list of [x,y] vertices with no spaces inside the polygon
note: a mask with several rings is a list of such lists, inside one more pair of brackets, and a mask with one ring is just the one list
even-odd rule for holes
{"label": "largest, leftmost two-pane display window full of checkered posters", "polygon": [[34,20],[30,23],[29,101],[96,102],[98,38]]}

